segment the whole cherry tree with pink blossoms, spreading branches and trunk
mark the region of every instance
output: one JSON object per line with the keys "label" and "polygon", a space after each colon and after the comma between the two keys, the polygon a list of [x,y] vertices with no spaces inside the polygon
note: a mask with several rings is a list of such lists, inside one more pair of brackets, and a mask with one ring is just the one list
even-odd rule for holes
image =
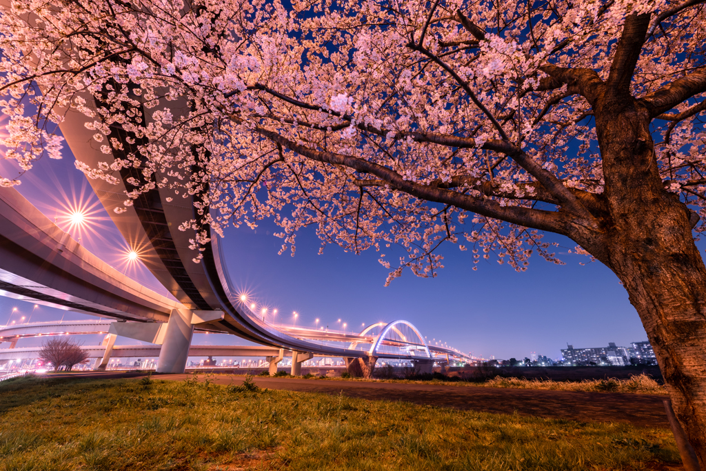
{"label": "whole cherry tree with pink blossoms, spreading branches and trunk", "polygon": [[4,1],[22,169],[73,109],[106,154],[78,168],[126,205],[193,198],[195,249],[272,217],[282,251],[313,225],[388,282],[435,275],[444,242],[561,263],[562,234],[625,286],[706,467],[703,1]]}

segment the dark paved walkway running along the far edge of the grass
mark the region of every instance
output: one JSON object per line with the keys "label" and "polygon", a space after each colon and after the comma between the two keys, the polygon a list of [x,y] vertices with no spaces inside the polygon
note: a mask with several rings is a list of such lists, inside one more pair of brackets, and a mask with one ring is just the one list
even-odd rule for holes
{"label": "dark paved walkway running along the far edge of the grass", "polygon": [[[52,375],[53,376],[53,375]],[[62,375],[63,376],[63,375]],[[66,376],[83,378],[124,378],[144,376],[136,373],[87,373]],[[160,374],[154,378],[184,381],[189,374]],[[203,380],[204,376],[201,375]],[[218,384],[240,384],[243,376],[214,376]],[[662,401],[666,396],[581,393],[573,391],[484,388],[480,386],[443,386],[431,384],[333,381],[299,378],[266,378],[256,376],[261,388],[286,389],[308,393],[343,393],[352,398],[405,401],[409,403],[455,407],[583,422],[630,422],[638,427],[664,427],[669,423]]]}

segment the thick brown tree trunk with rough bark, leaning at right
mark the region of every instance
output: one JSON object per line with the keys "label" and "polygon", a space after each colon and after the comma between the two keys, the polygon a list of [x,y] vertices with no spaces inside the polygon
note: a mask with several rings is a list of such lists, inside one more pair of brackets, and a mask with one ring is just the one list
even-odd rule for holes
{"label": "thick brown tree trunk with rough bark, leaning at right", "polygon": [[594,112],[610,220],[584,247],[626,287],[676,417],[706,470],[706,267],[690,211],[664,189],[640,102],[604,97]]}

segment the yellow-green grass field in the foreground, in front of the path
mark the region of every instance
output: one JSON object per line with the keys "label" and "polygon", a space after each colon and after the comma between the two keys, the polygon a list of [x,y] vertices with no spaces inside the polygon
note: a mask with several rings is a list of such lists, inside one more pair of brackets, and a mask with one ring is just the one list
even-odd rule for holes
{"label": "yellow-green grass field in the foreground, in front of the path", "polygon": [[0,470],[666,470],[666,429],[207,381],[0,383]]}

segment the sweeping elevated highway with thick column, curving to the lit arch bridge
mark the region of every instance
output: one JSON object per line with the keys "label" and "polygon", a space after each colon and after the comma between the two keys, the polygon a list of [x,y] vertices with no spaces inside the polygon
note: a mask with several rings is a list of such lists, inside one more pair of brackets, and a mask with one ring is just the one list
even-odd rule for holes
{"label": "sweeping elevated highway with thick column, curving to the lit arch bridge", "polygon": [[[87,98],[89,106],[95,107],[92,98]],[[170,102],[169,106],[175,105]],[[83,114],[69,110],[61,124],[73,154],[80,155],[86,164],[110,165],[134,150],[131,136],[119,125],[112,125],[108,138],[119,141],[121,148],[115,148],[112,155],[102,153],[92,139],[92,131],[84,126],[86,121]],[[230,333],[278,351],[296,352],[295,359],[314,354],[344,357],[350,362],[359,361],[364,371],[371,371],[378,357],[425,364],[442,356],[468,359],[456,350],[426,345],[421,333],[404,321],[379,324],[378,333],[366,329],[358,335],[288,328],[264,321],[233,290],[217,234],[208,225],[201,225],[210,242],[203,248],[201,263],[195,263],[190,239],[196,238],[196,232],[174,230],[181,222],[203,220],[193,196],[174,198],[172,190],[155,186],[125,207],[126,191],[134,189],[129,182],[142,181],[143,176],[134,168],[113,173],[116,185],[101,179],[90,179],[90,184],[128,244],[139,251],[140,260],[174,299],[148,290],[90,254],[11,188],[0,189],[0,294],[142,323],[141,328],[131,327],[132,338],[143,340],[141,335],[156,339],[157,334],[161,335],[157,366],[161,372],[184,371],[194,328]],[[162,177],[172,178],[160,174]],[[151,323],[164,325],[149,326]],[[125,330],[123,334],[129,336]]]}

